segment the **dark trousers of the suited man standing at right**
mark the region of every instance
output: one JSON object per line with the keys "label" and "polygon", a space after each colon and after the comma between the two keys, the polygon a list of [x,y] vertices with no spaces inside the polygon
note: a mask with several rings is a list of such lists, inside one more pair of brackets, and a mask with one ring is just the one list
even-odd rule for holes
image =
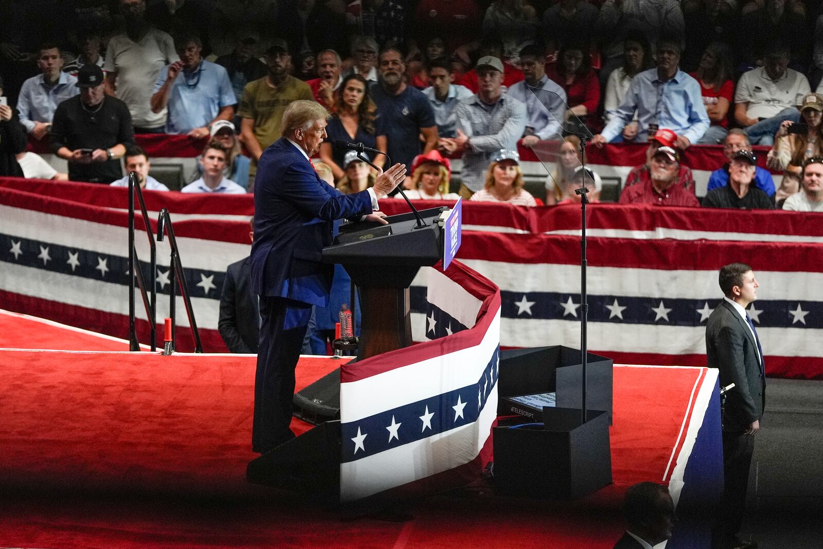
{"label": "dark trousers of the suited man standing at right", "polygon": [[754,435],[723,431],[723,499],[718,522],[712,532],[713,547],[734,547],[746,511],[746,488],[749,485]]}

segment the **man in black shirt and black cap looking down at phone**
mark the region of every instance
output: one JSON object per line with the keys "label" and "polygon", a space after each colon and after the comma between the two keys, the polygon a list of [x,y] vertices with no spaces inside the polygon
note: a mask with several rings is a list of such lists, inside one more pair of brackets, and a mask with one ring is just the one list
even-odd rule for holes
{"label": "man in black shirt and black cap looking down at phone", "polygon": [[123,177],[119,158],[134,142],[132,115],[123,101],[106,95],[103,71],[83,65],[77,72],[80,95],[54,111],[52,151],[68,161],[72,181],[109,184]]}

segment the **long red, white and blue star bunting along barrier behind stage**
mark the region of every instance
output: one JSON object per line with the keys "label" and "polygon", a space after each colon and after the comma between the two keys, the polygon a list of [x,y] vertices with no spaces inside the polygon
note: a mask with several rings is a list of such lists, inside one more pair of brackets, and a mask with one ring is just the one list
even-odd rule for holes
{"label": "long red, white and blue star bunting along barrier behind stage", "polygon": [[[127,198],[122,188],[0,179],[0,307],[127,337]],[[249,254],[252,198],[148,192],[146,202],[151,212],[169,207],[203,345],[224,350],[219,297],[226,265]],[[380,207],[407,208],[399,200]],[[622,363],[704,365],[705,323],[722,298],[718,268],[740,261],[760,281],[749,312],[767,374],[823,379],[821,221],[816,213],[593,204],[589,349]],[[579,208],[468,202],[463,227],[458,259],[500,287],[500,344],[579,346]],[[142,231],[136,244],[148,277]],[[158,244],[162,319],[169,259],[168,244]],[[415,340],[469,327],[460,315],[440,319],[439,305],[430,309],[425,277],[412,286]],[[137,311],[146,342],[139,300]],[[181,301],[178,311],[187,326]],[[188,330],[178,337],[187,350]]]}

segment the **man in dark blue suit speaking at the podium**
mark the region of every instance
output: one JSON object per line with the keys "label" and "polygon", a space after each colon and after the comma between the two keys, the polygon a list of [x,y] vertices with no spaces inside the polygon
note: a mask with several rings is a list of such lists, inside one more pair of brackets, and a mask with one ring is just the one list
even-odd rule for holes
{"label": "man in dark blue suit speaking at the podium", "polygon": [[309,157],[326,137],[328,111],[298,100],[283,113],[282,136],[263,151],[254,180],[252,291],[260,296],[260,344],[254,384],[253,450],[294,438],[289,429],[295,366],[312,305],[328,304],[332,221],[379,221],[377,201],[402,181],[405,165],[378,175],[374,187],[344,195],[319,178]]}

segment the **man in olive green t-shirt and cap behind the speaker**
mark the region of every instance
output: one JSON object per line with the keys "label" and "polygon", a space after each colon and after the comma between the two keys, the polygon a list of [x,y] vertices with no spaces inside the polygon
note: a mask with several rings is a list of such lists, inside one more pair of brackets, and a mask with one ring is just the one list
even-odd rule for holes
{"label": "man in olive green t-shirt and cap behind the speaker", "polygon": [[285,40],[273,40],[266,51],[266,64],[268,74],[246,84],[237,110],[243,119],[240,141],[252,156],[249,168],[252,178],[257,173],[263,150],[280,138],[280,123],[286,107],[292,101],[314,100],[309,85],[289,74],[291,55]]}

